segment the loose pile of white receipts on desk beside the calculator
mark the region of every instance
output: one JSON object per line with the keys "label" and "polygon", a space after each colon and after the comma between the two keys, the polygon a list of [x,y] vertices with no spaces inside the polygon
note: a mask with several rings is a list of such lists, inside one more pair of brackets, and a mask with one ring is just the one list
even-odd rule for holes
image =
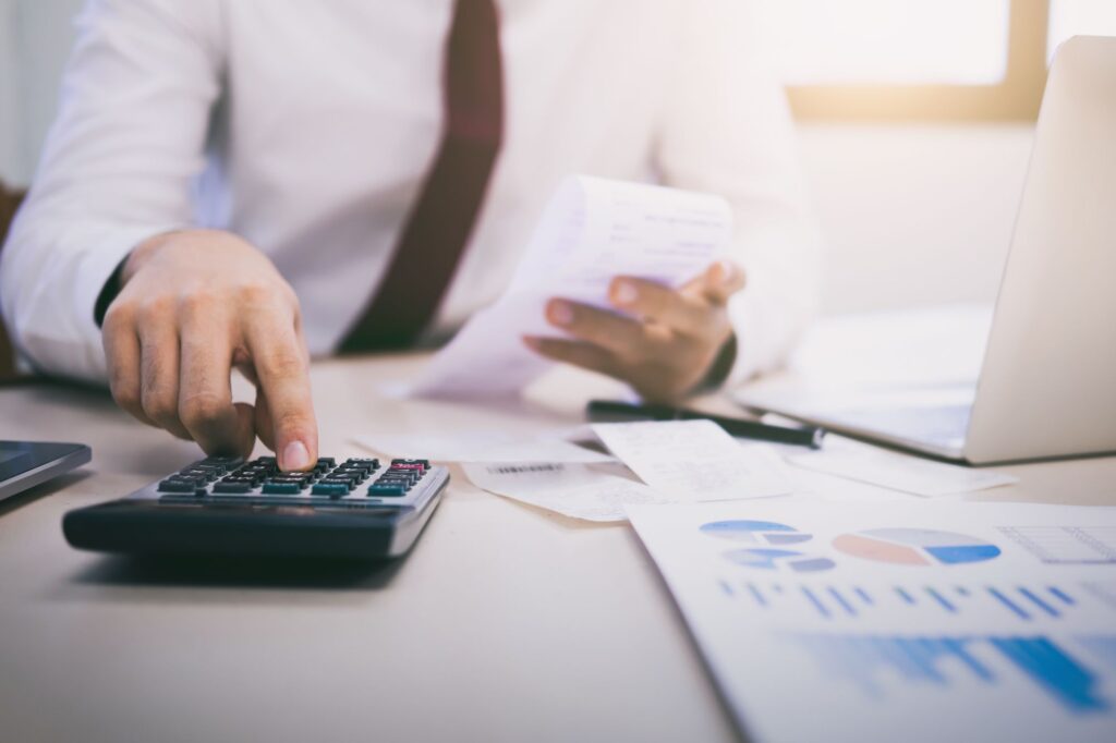
{"label": "loose pile of white receipts on desk beside the calculator", "polygon": [[602,423],[565,436],[586,431],[609,454],[565,441],[561,432],[358,441],[391,456],[460,462],[478,488],[587,521],[625,521],[633,504],[767,498],[793,489],[773,450],[741,446],[710,421]]}

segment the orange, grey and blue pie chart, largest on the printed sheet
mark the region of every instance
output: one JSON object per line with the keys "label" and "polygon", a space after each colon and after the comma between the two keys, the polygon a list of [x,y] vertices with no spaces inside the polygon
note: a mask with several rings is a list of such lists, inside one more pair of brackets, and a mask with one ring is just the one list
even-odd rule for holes
{"label": "orange, grey and blue pie chart, largest on the printed sheet", "polygon": [[868,529],[837,537],[834,547],[845,554],[893,565],[964,565],[1000,554],[999,547],[983,539],[931,529]]}

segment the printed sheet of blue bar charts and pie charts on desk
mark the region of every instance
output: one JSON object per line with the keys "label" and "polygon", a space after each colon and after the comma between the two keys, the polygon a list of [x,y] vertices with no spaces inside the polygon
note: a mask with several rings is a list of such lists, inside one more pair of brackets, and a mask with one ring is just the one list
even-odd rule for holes
{"label": "printed sheet of blue bar charts and pie charts on desk", "polygon": [[1116,741],[1116,509],[628,514],[750,740]]}

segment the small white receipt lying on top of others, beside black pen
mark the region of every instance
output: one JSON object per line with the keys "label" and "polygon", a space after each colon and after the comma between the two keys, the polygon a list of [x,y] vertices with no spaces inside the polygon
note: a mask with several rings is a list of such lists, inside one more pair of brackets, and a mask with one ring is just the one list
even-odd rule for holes
{"label": "small white receipt lying on top of others, beside black pen", "polygon": [[741,446],[711,421],[598,423],[594,433],[653,489],[677,501],[729,501],[790,493],[779,455]]}

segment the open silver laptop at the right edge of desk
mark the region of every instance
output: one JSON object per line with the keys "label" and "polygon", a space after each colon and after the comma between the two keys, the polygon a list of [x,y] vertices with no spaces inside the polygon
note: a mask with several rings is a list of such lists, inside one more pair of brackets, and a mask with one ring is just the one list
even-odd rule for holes
{"label": "open silver laptop at the right edge of desk", "polygon": [[737,399],[974,465],[1116,453],[1116,38],[1055,56],[975,380]]}

